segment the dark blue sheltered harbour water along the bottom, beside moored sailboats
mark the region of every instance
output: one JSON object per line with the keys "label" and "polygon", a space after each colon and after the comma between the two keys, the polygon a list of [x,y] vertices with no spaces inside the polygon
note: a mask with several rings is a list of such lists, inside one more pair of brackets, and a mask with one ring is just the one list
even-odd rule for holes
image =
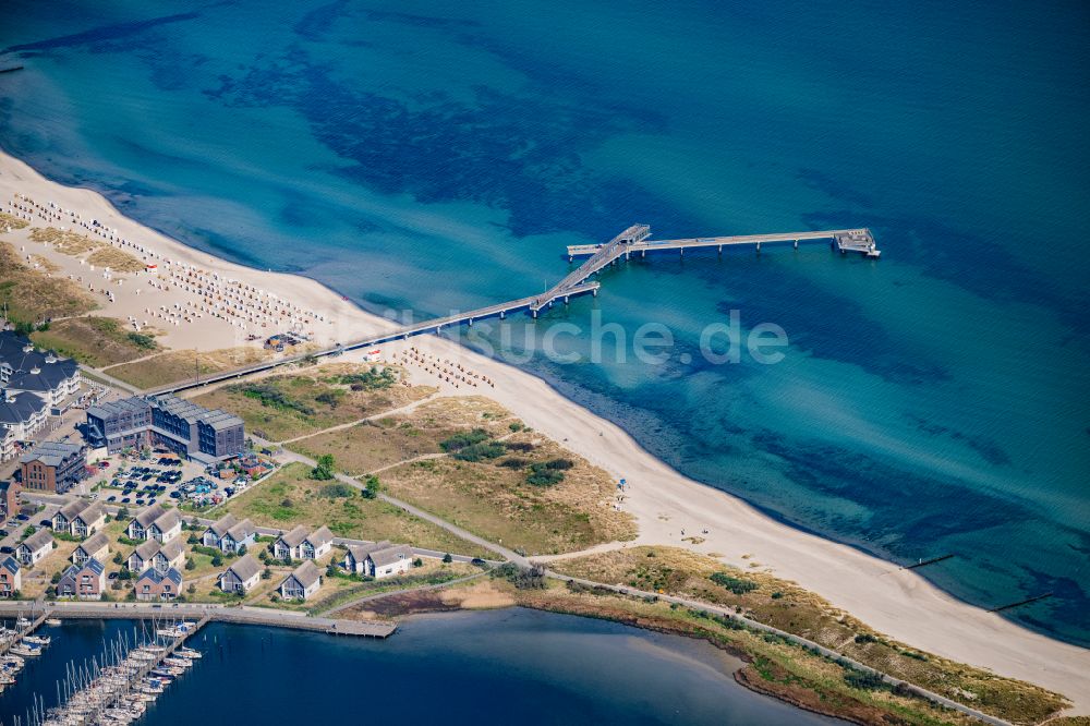
{"label": "dark blue sheltered harbour water along the bottom, beside moored sailboats", "polygon": [[[66,660],[131,627],[65,624],[40,667],[63,674]],[[343,723],[347,704],[361,714],[349,723],[839,723],[739,686],[741,663],[707,643],[522,608],[415,617],[386,641],[211,624],[190,644],[204,657],[148,723]],[[49,707],[46,675],[28,673]],[[0,723],[28,705],[0,695]]]}

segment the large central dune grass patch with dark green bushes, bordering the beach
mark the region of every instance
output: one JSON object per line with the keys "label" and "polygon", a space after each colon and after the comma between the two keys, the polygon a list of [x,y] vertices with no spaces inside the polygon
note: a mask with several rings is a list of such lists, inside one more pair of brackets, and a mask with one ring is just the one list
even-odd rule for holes
{"label": "large central dune grass patch with dark green bushes, bordering the beach", "polygon": [[[372,441],[382,441],[384,431],[420,432],[426,443],[421,449],[446,455],[384,471],[383,485],[398,498],[530,554],[635,536],[631,517],[613,508],[615,484],[604,471],[526,431],[487,399],[436,399],[398,421],[386,429],[353,431],[349,455],[355,464],[350,468],[362,469],[359,464],[366,463]],[[450,429],[455,433],[439,438]],[[317,450],[308,439],[302,444]],[[336,448],[335,441],[326,445]]]}

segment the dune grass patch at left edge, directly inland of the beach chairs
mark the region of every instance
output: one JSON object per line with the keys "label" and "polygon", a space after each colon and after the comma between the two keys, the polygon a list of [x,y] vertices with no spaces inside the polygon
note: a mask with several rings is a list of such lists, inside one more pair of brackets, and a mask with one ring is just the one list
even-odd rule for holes
{"label": "dune grass patch at left edge, directly inland of the beach chairs", "polygon": [[0,303],[15,323],[80,315],[98,303],[72,280],[50,277],[23,263],[11,244],[0,242]]}

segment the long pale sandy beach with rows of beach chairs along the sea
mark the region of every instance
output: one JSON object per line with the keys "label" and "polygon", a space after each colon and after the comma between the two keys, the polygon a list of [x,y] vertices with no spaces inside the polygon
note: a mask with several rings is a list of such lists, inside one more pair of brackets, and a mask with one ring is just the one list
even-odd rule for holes
{"label": "long pale sandy beach with rows of beach chairs along the sea", "polygon": [[[170,348],[259,347],[261,341],[247,341],[247,336],[278,332],[277,325],[298,326],[320,343],[352,340],[392,326],[316,281],[254,270],[192,250],[125,218],[97,193],[55,184],[25,164],[0,155],[0,210],[12,214],[10,203],[23,198],[16,195],[55,210],[46,213],[46,218],[31,213],[32,228],[71,228],[75,213],[80,220],[98,222],[106,237],[93,233],[96,239],[156,265],[154,271],[111,273],[104,278],[104,270],[90,270],[77,257],[32,241],[31,229],[4,237],[21,254],[56,265],[53,275],[81,277],[82,285],[95,288],[93,292],[101,297],[101,308],[95,314],[134,326],[146,320]],[[761,569],[796,581],[915,648],[1058,691],[1075,702],[1069,713],[1090,714],[1090,651],[961,603],[911,571],[776,522],[735,497],[689,480],[643,450],[618,426],[517,368],[433,336],[384,346],[383,355],[400,355],[410,347],[450,361],[448,370],[461,365],[479,376],[469,376],[476,383],[472,385],[410,366],[414,382],[438,385],[447,394],[494,398],[530,426],[615,477],[625,477],[630,487],[622,506],[637,518],[638,544],[687,547],[741,568],[759,562]],[[482,383],[480,376],[489,383]],[[703,542],[682,541],[682,531]]]}

